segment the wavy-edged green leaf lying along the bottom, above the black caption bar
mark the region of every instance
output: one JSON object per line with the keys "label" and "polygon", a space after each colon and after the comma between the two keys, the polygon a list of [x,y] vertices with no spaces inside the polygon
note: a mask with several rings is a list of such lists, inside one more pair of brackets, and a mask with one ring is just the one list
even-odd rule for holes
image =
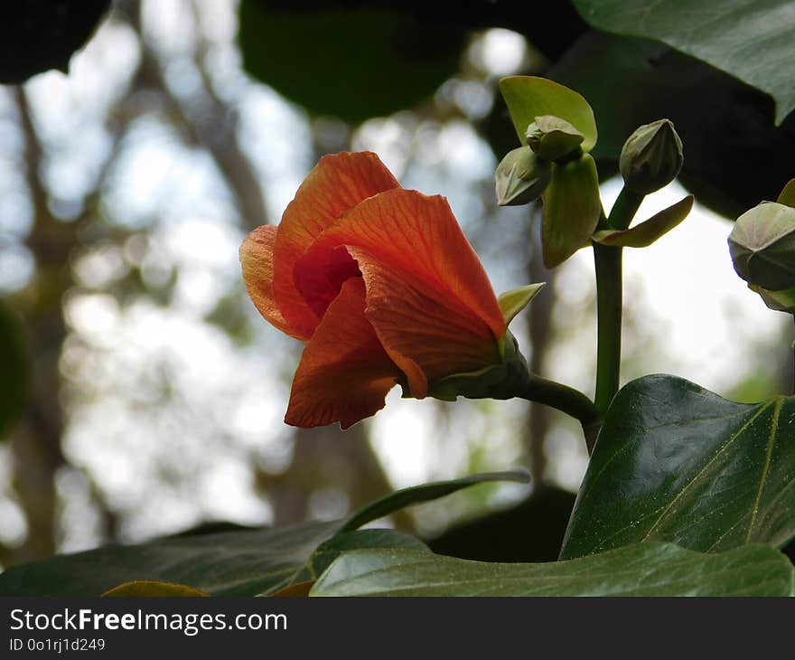
{"label": "wavy-edged green leaf lying along the bottom, above the black caption bar", "polygon": [[540,564],[355,551],[310,596],[791,596],[792,581],[790,561],[765,545],[704,554],[648,542]]}

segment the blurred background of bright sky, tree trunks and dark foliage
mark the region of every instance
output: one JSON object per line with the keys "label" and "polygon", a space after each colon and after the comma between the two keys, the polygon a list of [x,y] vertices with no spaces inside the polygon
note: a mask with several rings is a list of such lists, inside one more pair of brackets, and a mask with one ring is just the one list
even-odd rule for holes
{"label": "blurred background of bright sky, tree trunks and dark foliage", "polygon": [[538,208],[494,201],[517,146],[502,75],[591,102],[608,205],[635,127],[668,117],[683,138],[680,184],[641,215],[682,185],[700,205],[627,255],[624,381],[674,372],[738,401],[791,382],[790,328],[734,278],[719,214],[775,198],[795,115],[776,126],[770,97],[660,42],[596,32],[569,2],[27,0],[0,25],[0,567],[335,518],[518,465],[529,491],[478,486],[390,522],[437,552],[554,558],[585,470],[575,422],[393,392],[345,433],[286,427],[300,346],[257,315],[237,256],[320,156],[374,150],[449,198],[498,292],[547,282],[515,334],[534,371],[592,393],[590,254],[548,272]]}

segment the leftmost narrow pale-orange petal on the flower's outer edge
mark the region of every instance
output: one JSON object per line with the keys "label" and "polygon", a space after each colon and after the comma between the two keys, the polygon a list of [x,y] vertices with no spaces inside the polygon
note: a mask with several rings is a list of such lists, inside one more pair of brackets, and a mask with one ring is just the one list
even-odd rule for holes
{"label": "leftmost narrow pale-orange petal on the flower's outer edge", "polygon": [[240,264],[248,296],[265,319],[287,335],[301,338],[287,324],[273,296],[273,250],[276,227],[263,225],[252,231],[240,246]]}

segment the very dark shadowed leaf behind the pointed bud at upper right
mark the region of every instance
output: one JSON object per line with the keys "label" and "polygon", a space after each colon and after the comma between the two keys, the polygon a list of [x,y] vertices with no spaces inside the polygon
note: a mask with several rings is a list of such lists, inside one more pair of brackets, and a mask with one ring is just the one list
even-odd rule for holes
{"label": "very dark shadowed leaf behind the pointed bud at upper right", "polygon": [[588,99],[599,120],[592,155],[605,176],[641,124],[667,117],[685,148],[678,181],[734,219],[774,200],[792,177],[795,114],[773,126],[772,99],[659,42],[586,34],[548,75]]}

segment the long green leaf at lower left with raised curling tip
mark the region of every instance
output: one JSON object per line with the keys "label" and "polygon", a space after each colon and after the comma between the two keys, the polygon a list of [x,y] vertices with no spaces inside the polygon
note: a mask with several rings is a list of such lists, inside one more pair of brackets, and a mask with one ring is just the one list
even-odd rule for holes
{"label": "long green leaf at lower left with raised curling tip", "polygon": [[341,552],[351,549],[426,550],[424,543],[405,533],[357,528],[411,504],[495,480],[527,481],[528,476],[521,471],[495,472],[412,486],[341,521],[178,536],[60,555],[0,574],[0,596],[98,596],[140,580],[176,583],[213,596],[267,595],[314,580]]}

